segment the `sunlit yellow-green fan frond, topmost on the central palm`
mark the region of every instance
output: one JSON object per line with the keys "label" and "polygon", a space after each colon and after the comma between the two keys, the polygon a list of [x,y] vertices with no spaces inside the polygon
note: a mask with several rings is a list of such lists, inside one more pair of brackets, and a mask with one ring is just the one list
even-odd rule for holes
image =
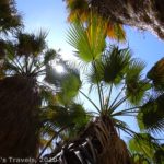
{"label": "sunlit yellow-green fan frond, topmost on the central palm", "polygon": [[68,43],[78,52],[77,56],[85,62],[98,59],[105,48],[105,25],[97,16],[91,17],[91,23],[73,23],[68,32]]}

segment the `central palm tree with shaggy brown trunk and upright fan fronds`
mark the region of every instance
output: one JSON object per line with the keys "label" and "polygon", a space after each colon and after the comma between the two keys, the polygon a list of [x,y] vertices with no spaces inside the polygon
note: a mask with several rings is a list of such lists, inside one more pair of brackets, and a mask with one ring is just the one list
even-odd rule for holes
{"label": "central palm tree with shaggy brown trunk and upright fan fronds", "polygon": [[90,98],[85,92],[79,91],[95,110],[93,119],[77,138],[49,154],[61,163],[132,163],[119,131],[144,140],[118,116],[136,117],[151,97],[151,80],[142,75],[145,65],[132,58],[129,48],[106,46],[106,34],[102,28],[104,24],[94,16],[92,24],[74,23],[69,31],[68,42],[77,49],[77,57],[85,68],[83,73],[91,84],[90,91],[95,90],[97,98]]}

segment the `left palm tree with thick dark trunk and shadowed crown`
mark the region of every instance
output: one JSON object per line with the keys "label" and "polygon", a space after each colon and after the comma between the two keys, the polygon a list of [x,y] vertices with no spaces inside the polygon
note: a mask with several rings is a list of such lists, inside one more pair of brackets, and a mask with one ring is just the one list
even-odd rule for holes
{"label": "left palm tree with thick dark trunk and shadowed crown", "polygon": [[44,32],[19,32],[15,40],[5,44],[0,80],[0,156],[35,157],[38,153],[40,94],[49,91],[38,77],[56,57],[45,38]]}

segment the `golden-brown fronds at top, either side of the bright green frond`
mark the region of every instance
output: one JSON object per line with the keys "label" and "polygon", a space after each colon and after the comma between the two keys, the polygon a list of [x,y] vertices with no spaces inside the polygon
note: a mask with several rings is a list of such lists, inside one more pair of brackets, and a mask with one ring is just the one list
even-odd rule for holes
{"label": "golden-brown fronds at top, either side of the bright green frond", "polygon": [[[90,2],[86,0],[66,0],[67,9],[69,11],[68,21],[69,22],[85,22],[91,24],[91,17],[96,13],[96,10],[90,8]],[[104,20],[104,24],[106,28],[102,28],[106,36],[117,40],[125,40],[126,33],[122,28],[121,24],[114,23],[112,20],[107,20],[105,17],[99,17],[99,20]],[[103,23],[101,21],[101,23]]]}

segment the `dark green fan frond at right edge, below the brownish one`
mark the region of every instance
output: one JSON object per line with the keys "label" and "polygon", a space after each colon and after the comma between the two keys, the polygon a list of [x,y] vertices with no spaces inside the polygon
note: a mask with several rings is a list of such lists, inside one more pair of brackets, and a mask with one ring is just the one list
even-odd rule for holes
{"label": "dark green fan frond at right edge, below the brownish one", "polygon": [[137,116],[141,130],[162,132],[164,129],[164,94],[151,97],[139,110]]}

